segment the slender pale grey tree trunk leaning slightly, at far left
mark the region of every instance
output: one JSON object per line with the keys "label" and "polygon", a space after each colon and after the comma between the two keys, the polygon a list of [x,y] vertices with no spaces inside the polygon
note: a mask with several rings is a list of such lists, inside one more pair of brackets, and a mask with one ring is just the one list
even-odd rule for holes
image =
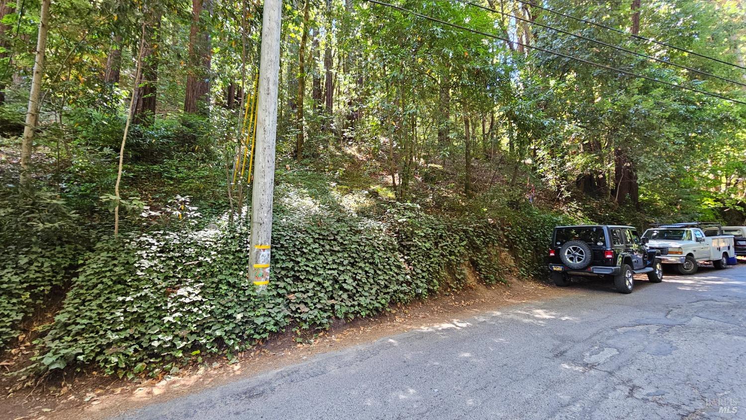
{"label": "slender pale grey tree trunk leaning slightly, at far left", "polygon": [[34,149],[34,134],[39,121],[39,109],[42,93],[42,79],[44,76],[44,58],[46,54],[47,32],[49,30],[49,6],[51,0],[42,0],[39,18],[39,36],[37,37],[37,52],[34,57],[34,72],[31,76],[31,90],[28,94],[28,110],[26,123],[23,128],[21,143],[21,176],[20,184],[24,189],[31,188],[31,151]]}

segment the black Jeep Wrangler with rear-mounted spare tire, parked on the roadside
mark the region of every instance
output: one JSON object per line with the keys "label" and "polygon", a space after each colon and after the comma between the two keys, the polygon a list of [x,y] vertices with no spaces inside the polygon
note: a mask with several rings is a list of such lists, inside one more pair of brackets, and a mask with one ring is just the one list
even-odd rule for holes
{"label": "black Jeep Wrangler with rear-mounted spare tire, parked on the roadside", "polygon": [[630,293],[634,275],[648,274],[651,283],[663,280],[660,251],[648,249],[631,226],[557,226],[549,248],[549,271],[557,286],[567,286],[571,276],[598,276],[614,280],[618,292]]}

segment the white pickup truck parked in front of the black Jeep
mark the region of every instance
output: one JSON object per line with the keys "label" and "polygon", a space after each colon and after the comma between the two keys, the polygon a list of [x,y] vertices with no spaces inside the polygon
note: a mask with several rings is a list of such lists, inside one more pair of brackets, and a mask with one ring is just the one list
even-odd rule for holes
{"label": "white pickup truck parked in front of the black Jeep", "polygon": [[725,269],[736,257],[733,235],[723,234],[720,225],[712,223],[676,223],[645,231],[648,248],[660,251],[664,264],[676,264],[683,275],[697,272],[698,263],[712,261],[716,269]]}

